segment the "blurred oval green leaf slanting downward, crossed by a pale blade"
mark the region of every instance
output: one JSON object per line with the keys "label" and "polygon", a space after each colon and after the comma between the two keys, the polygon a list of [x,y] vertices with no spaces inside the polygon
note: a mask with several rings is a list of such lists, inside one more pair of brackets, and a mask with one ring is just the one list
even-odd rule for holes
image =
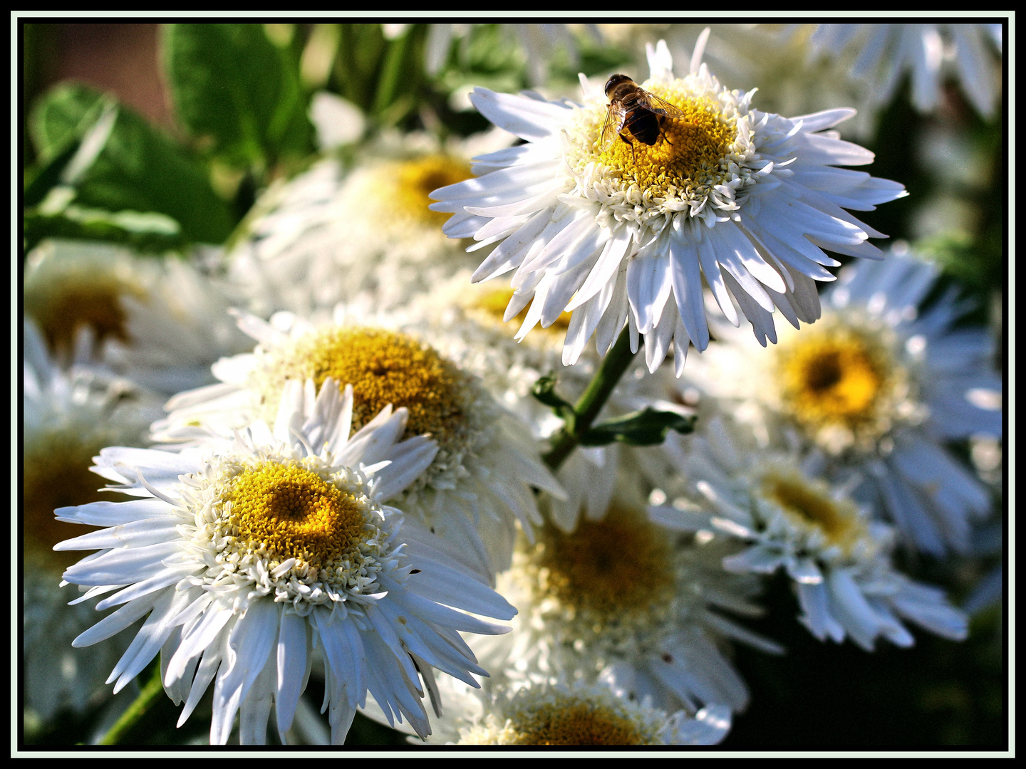
{"label": "blurred oval green leaf slanting downward, crossed by a pale blade", "polygon": [[[105,120],[113,126],[101,130]],[[82,140],[57,174],[68,176],[74,166],[73,177],[63,180],[74,186],[77,205],[163,213],[190,242],[221,243],[231,232],[228,206],[203,166],[110,96],[83,85],[60,85],[37,106],[30,126],[40,156],[48,160],[58,160],[71,143]]]}

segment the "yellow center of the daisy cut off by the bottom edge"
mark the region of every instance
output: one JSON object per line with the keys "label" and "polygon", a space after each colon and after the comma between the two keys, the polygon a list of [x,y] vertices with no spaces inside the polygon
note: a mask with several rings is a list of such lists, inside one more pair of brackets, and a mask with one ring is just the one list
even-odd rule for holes
{"label": "yellow center of the daisy cut off by the bottom edge", "polygon": [[491,744],[643,745],[650,740],[630,720],[577,697],[558,697],[517,713]]}

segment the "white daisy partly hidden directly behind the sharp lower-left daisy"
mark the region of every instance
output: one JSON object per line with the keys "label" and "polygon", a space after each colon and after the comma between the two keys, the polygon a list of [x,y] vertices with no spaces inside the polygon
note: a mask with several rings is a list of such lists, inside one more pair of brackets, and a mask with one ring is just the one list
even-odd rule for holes
{"label": "white daisy partly hidden directly behind the sharp lower-left daisy", "polygon": [[[489,581],[509,565],[517,523],[542,522],[535,488],[561,494],[526,428],[503,409],[472,374],[395,318],[340,306],[334,321],[314,324],[280,313],[271,323],[240,315],[260,343],[251,354],[214,366],[222,383],[172,398],[158,440],[203,440],[273,418],[288,379],[327,376],[353,386],[353,418],[365,424],[382,408],[409,411],[406,437],[430,434],[438,454],[409,485],[401,507],[445,538],[457,557]],[[199,426],[199,427],[197,427]]]}

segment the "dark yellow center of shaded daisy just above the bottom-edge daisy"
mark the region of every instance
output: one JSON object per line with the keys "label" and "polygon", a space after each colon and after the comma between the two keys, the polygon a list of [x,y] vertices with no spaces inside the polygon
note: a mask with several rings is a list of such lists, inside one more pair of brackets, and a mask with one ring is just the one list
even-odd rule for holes
{"label": "dark yellow center of shaded daisy just above the bottom-edge daisy", "polygon": [[539,590],[598,625],[649,613],[672,596],[671,542],[635,511],[610,508],[573,534],[548,526],[534,555]]}

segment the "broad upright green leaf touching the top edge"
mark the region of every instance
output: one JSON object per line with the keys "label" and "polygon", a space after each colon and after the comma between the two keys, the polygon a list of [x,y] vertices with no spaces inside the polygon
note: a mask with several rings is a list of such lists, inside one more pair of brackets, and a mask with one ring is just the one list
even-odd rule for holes
{"label": "broad upright green leaf touching the top edge", "polygon": [[179,119],[212,154],[267,167],[313,150],[299,63],[263,25],[167,25],[163,57]]}

